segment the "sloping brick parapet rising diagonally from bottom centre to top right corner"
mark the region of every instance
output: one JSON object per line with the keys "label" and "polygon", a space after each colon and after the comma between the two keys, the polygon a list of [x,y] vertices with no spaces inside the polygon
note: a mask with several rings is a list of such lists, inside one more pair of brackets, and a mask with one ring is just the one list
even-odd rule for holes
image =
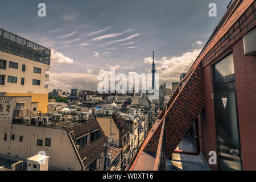
{"label": "sloping brick parapet rising diagonally from bottom centre to top right corner", "polygon": [[255,27],[255,5],[254,0],[236,0],[232,3],[214,30],[213,35],[210,36],[203,51],[180,83],[183,88],[176,90],[174,96],[159,115],[160,122],[158,126],[154,131],[151,129],[150,133],[152,134],[144,140],[141,150],[139,150],[133,164],[130,166],[130,170],[134,169],[142,152],[156,154],[164,118],[166,118],[167,158],[171,158],[181,139],[205,106],[204,65],[209,64],[217,56],[228,51],[228,48],[234,42],[241,39],[243,35]]}

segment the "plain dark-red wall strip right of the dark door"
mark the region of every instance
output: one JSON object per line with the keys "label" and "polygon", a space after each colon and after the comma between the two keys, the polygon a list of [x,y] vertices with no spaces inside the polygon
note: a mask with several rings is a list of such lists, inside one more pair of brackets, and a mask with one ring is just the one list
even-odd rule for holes
{"label": "plain dark-red wall strip right of the dark door", "polygon": [[256,58],[244,55],[242,39],[233,56],[243,170],[256,170]]}

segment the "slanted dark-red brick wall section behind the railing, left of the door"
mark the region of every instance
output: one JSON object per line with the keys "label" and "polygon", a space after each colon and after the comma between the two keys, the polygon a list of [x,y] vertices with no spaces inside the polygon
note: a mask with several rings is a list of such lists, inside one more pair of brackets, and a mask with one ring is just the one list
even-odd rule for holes
{"label": "slanted dark-red brick wall section behind the railing, left of the door", "polygon": [[[201,66],[201,64],[197,65],[167,110],[165,118],[168,159],[171,159],[172,153],[204,108],[204,78]],[[155,130],[144,151],[156,153],[161,129],[162,123]]]}

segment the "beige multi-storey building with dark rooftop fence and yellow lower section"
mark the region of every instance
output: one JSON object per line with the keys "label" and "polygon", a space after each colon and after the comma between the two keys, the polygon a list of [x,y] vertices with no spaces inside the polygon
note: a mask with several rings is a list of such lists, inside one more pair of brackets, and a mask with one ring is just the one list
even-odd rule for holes
{"label": "beige multi-storey building with dark rooftop fence and yellow lower section", "polygon": [[0,29],[0,92],[31,96],[38,111],[47,113],[51,50]]}

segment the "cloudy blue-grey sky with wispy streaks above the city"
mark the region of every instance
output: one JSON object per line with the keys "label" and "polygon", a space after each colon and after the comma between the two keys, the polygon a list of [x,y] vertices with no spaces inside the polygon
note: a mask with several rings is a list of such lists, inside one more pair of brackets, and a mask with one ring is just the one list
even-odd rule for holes
{"label": "cloudy blue-grey sky with wispy streaks above the city", "polygon": [[[97,76],[149,73],[159,83],[187,72],[230,0],[1,1],[0,27],[51,48],[49,90],[97,89]],[[46,3],[46,17],[38,4]],[[217,16],[208,15],[216,3]]]}

